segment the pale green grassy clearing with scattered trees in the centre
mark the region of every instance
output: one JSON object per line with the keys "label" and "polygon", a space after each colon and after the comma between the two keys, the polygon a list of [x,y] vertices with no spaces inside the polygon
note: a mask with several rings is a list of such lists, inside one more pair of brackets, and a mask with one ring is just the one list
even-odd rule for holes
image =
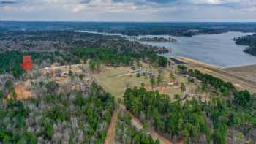
{"label": "pale green grassy clearing with scattered trees in the centre", "polygon": [[[110,94],[113,94],[116,99],[122,99],[127,87],[140,87],[141,83],[144,83],[145,88],[148,91],[158,90],[161,94],[168,94],[170,98],[173,98],[176,94],[181,94],[181,83],[185,83],[187,87],[192,86],[187,83],[187,77],[184,76],[176,76],[175,81],[177,85],[168,86],[167,83],[170,83],[170,67],[162,69],[164,80],[159,86],[156,85],[153,88],[148,75],[140,75],[140,77],[136,77],[136,73],[132,72],[132,69],[129,69],[129,67],[106,67],[105,69],[105,72],[94,72],[94,77],[99,81],[100,85],[105,88],[106,91],[110,92]],[[152,71],[157,79],[159,69],[149,68],[146,64],[143,65],[143,69]]]}

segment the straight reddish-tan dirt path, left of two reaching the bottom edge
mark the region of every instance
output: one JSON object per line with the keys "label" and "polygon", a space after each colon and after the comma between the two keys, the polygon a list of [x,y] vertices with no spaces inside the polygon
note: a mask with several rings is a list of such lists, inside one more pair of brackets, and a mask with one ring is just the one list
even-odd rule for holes
{"label": "straight reddish-tan dirt path, left of two reaching the bottom edge", "polygon": [[105,144],[115,143],[116,123],[117,123],[117,110],[114,110],[110,126],[108,127]]}

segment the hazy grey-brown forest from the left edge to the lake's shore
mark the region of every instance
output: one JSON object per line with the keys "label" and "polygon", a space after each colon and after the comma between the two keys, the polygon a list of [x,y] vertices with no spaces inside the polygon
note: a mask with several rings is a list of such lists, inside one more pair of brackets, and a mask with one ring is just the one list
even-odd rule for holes
{"label": "hazy grey-brown forest from the left edge to the lake's shore", "polygon": [[124,37],[75,31],[5,31],[0,35],[0,52],[68,52],[72,48],[129,48],[133,51],[166,53],[167,48],[130,42]]}

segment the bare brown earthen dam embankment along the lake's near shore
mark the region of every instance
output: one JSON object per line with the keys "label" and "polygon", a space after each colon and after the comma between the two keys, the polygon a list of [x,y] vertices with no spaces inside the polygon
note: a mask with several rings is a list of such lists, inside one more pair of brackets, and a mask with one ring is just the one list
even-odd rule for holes
{"label": "bare brown earthen dam embankment along the lake's near shore", "polygon": [[196,61],[190,58],[185,58],[181,56],[175,56],[173,58],[176,58],[179,61],[183,61],[188,67],[192,69],[199,69],[201,72],[208,73],[210,75],[214,75],[215,77],[219,77],[227,82],[231,82],[237,88],[256,92],[256,78],[252,77],[252,73],[249,72],[251,70],[255,71],[256,66],[221,69],[211,64],[205,64],[203,62]]}

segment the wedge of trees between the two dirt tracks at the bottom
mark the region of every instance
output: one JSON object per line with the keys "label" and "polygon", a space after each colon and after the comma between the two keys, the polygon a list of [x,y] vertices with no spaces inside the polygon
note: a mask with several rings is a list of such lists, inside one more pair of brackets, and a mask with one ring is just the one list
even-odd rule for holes
{"label": "wedge of trees between the two dirt tracks at the bottom", "polygon": [[116,143],[159,144],[159,140],[153,140],[153,138],[143,130],[137,132],[131,124],[131,119],[128,114],[118,114],[115,137]]}

